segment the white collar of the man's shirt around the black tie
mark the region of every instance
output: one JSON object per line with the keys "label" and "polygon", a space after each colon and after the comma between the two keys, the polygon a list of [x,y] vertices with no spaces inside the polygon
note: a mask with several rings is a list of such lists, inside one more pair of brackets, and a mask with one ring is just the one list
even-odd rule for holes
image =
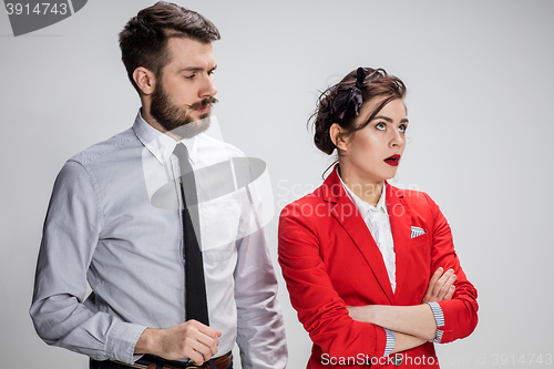
{"label": "white collar of the man's shirt around the black tie", "polygon": [[[174,139],[150,125],[142,117],[141,110],[138,110],[138,113],[136,114],[133,131],[142,144],[157,158],[162,165],[164,165],[167,158],[171,157],[175,146],[177,145],[177,142]],[[198,152],[196,137],[197,136],[179,141],[188,150],[188,157],[193,163],[196,163],[196,155]]]}

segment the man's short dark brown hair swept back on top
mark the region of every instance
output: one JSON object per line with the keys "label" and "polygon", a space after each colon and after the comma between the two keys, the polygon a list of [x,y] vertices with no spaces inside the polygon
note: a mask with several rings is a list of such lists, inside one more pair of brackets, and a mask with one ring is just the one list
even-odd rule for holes
{"label": "man's short dark brown hair swept back on top", "polygon": [[220,35],[209,20],[174,3],[158,1],[141,10],[120,33],[121,59],[138,93],[141,90],[133,80],[133,72],[136,68],[144,66],[156,79],[160,78],[162,69],[170,62],[170,38],[187,38],[208,43],[219,40]]}

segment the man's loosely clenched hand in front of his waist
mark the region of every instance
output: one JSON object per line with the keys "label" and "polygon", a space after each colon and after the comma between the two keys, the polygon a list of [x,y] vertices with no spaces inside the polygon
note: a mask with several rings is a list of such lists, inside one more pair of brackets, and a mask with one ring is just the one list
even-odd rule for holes
{"label": "man's loosely clenched hand in front of his waist", "polygon": [[151,353],[166,360],[189,358],[195,366],[209,360],[216,352],[222,332],[196,320],[167,329],[146,328],[135,346],[135,353]]}

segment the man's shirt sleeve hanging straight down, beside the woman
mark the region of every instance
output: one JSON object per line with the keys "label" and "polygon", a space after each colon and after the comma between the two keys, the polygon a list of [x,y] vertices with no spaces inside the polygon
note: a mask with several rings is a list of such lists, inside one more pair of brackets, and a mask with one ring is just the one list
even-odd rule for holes
{"label": "man's shirt sleeve hanging straight down, beside the woman", "polygon": [[[252,191],[250,191],[252,189]],[[235,301],[237,344],[243,368],[286,368],[287,345],[277,278],[266,244],[263,204],[255,184],[245,187],[237,242]]]}

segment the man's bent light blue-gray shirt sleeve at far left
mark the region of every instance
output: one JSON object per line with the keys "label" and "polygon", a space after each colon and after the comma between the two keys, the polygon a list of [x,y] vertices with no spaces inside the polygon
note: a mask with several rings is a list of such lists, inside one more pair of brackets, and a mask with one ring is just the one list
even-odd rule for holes
{"label": "man's bent light blue-gray shirt sleeve at far left", "polygon": [[124,322],[84,304],[86,273],[102,228],[100,199],[91,173],[69,161],[54,183],[37,263],[30,315],[48,344],[96,360],[132,363],[146,327]]}

